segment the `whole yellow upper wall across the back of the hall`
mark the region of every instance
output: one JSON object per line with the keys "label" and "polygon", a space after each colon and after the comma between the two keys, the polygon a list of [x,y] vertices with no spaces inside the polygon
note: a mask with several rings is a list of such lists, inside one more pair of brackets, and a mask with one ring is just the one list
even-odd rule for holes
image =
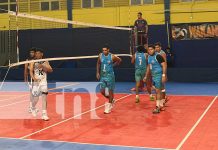
{"label": "whole yellow upper wall across the back of the hall", "polygon": [[[73,9],[73,19],[76,21],[111,26],[129,26],[133,25],[137,17],[137,12],[139,11],[143,13],[143,18],[148,21],[149,25],[164,24],[163,4]],[[33,14],[67,19],[66,10],[34,12]],[[171,4],[171,23],[192,22],[218,22],[218,1]],[[8,27],[8,24],[8,15],[0,14],[0,26]],[[49,26],[46,28],[49,28]],[[0,30],[2,30],[2,28]]]}

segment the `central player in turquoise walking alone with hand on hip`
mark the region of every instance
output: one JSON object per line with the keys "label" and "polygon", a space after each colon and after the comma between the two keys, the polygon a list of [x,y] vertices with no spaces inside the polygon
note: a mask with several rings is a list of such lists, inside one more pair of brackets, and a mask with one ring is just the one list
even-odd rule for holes
{"label": "central player in turquoise walking alone with hand on hip", "polygon": [[115,88],[115,75],[113,66],[119,65],[121,59],[109,51],[108,45],[102,48],[102,53],[99,54],[96,65],[96,77],[100,80],[100,90],[103,96],[108,98],[109,102],[105,104],[104,113],[108,114],[114,104],[114,88]]}

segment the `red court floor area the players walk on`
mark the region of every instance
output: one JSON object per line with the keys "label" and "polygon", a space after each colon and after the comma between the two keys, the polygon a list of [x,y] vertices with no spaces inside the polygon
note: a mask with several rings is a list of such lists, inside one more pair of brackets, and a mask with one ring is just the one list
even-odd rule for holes
{"label": "red court floor area the players walk on", "polygon": [[[23,98],[9,100],[0,96],[0,113],[27,113],[28,95],[22,94]],[[141,102],[136,104],[135,95],[116,94],[118,101],[111,114],[103,113],[104,97],[97,94],[94,108],[91,97],[87,93],[50,93],[50,121],[1,119],[0,137],[176,149],[214,99],[170,96],[166,111],[154,115],[155,102],[149,101],[147,95],[141,95]],[[217,105],[212,105],[181,149],[218,149]]]}

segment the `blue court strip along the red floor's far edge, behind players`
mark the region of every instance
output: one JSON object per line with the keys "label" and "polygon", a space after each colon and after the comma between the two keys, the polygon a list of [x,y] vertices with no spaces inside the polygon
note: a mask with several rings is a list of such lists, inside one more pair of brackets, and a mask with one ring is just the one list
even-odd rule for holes
{"label": "blue court strip along the red floor's far edge, behind players", "polygon": [[[60,92],[98,92],[98,82],[52,82],[49,83],[50,91]],[[135,86],[134,82],[117,82],[115,93],[131,93],[130,89]],[[73,90],[73,91],[72,91]],[[169,95],[201,95],[212,96],[218,93],[218,83],[178,83],[167,82],[166,90]],[[1,91],[26,92],[27,84],[23,82],[6,82]]]}

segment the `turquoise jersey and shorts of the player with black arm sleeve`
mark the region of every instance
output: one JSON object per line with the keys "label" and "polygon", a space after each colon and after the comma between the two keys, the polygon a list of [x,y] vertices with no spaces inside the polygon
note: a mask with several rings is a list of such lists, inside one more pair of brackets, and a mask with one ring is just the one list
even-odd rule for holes
{"label": "turquoise jersey and shorts of the player with black arm sleeve", "polygon": [[161,64],[157,60],[158,53],[155,53],[153,56],[148,56],[148,65],[150,65],[152,81],[157,89],[162,89],[162,73],[163,69]]}

